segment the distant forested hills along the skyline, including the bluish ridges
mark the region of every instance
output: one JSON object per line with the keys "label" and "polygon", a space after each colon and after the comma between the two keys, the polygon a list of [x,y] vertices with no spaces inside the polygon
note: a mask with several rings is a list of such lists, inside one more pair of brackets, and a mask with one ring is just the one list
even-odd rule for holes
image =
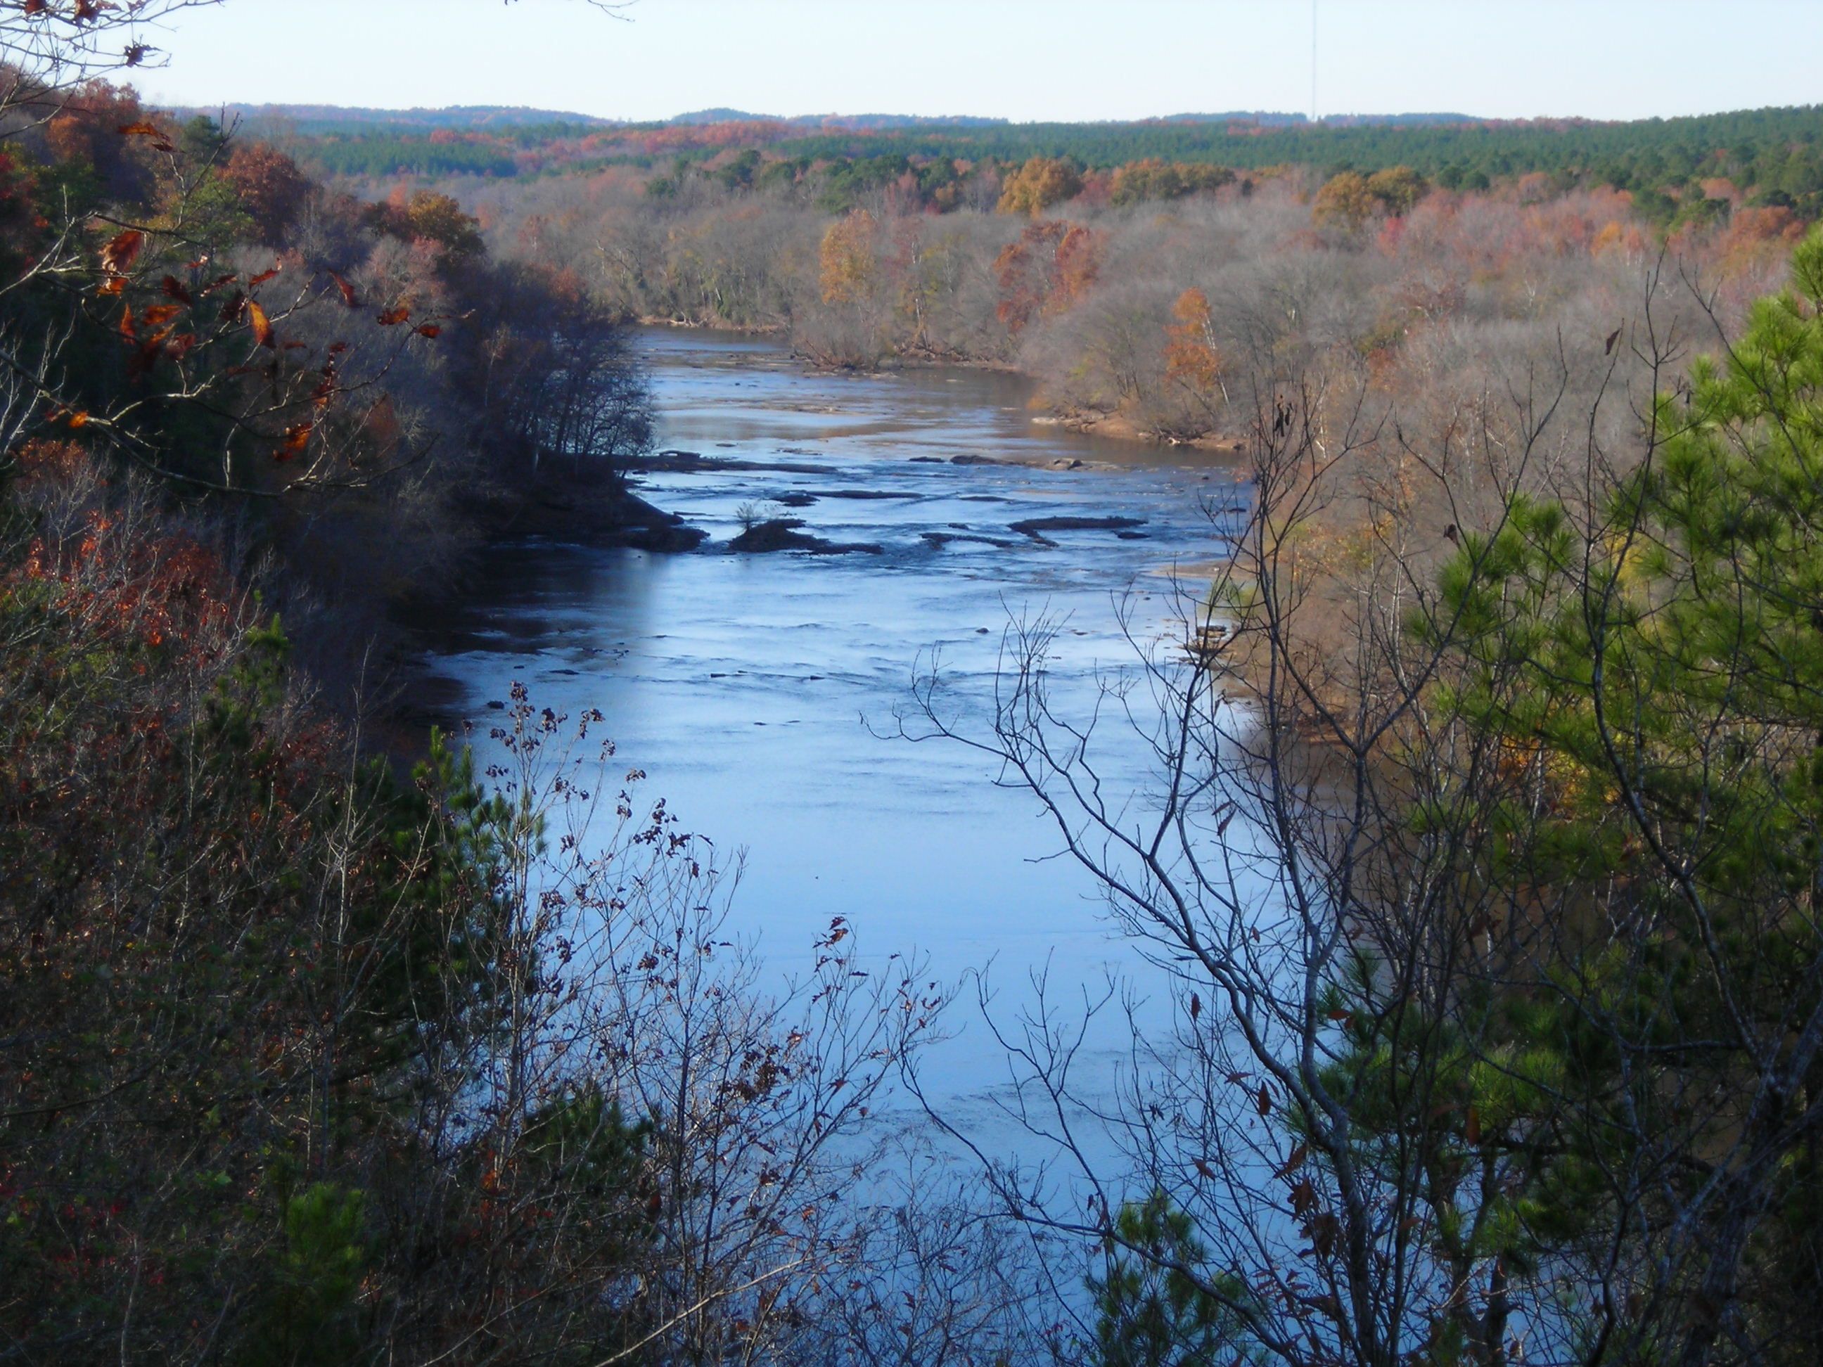
{"label": "distant forested hills along the skyline, including the bluish ridges", "polygon": [[[797,115],[696,109],[664,122],[614,122],[552,109],[459,106],[350,109],[233,106],[264,139],[323,175],[516,177],[636,168],[653,193],[691,177],[735,190],[813,184],[817,204],[848,208],[866,188],[904,182],[935,195],[968,166],[1066,157],[1110,173],[1136,162],[1223,166],[1236,173],[1307,166],[1373,173],[1404,166],[1446,190],[1546,173],[1555,184],[1612,186],[1635,211],[1672,222],[1688,204],[1787,208],[1823,219],[1823,106],[1732,109],[1632,122],[1475,118],[1462,113],[1176,113],[1139,120],[1023,124],[981,117]],[[749,155],[751,153],[751,155]],[[1690,186],[1725,186],[1723,197]],[[1732,190],[1726,190],[1732,186]],[[1732,199],[1730,199],[1732,197]]]}

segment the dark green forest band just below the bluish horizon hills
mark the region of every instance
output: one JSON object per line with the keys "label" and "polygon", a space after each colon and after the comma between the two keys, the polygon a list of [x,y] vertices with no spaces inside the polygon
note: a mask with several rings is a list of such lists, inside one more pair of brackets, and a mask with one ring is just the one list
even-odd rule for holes
{"label": "dark green forest band just below the bluish horizon hills", "polygon": [[[733,111],[729,111],[733,113]],[[1823,191],[1823,109],[1739,113],[1639,122],[1591,120],[1353,120],[1322,124],[1232,118],[1163,118],[1136,124],[1001,124],[921,120],[913,128],[853,128],[840,120],[733,117],[651,126],[578,129],[523,124],[509,129],[408,124],[372,129],[299,122],[292,151],[335,175],[530,175],[605,166],[667,166],[673,173],[727,151],[753,151],[758,184],[806,175],[844,186],[882,184],[913,173],[930,186],[968,166],[1015,168],[1034,157],[1068,160],[1079,173],[1112,173],[1132,162],[1227,166],[1263,171],[1307,166],[1364,175],[1409,166],[1446,190],[1486,190],[1493,180],[1542,175],[1568,188],[1624,190],[1681,199],[1703,180],[1726,179],[1754,204],[1796,204],[1818,213]],[[959,168],[957,168],[959,170]],[[946,208],[942,200],[932,200]],[[1670,213],[1664,213],[1670,217]]]}

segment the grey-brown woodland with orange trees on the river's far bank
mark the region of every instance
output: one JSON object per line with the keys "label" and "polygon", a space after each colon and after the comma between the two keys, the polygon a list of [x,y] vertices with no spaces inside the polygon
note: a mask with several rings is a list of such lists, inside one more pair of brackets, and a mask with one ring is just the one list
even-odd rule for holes
{"label": "grey-brown woodland with orange trees on the river's far bank", "polygon": [[[879,171],[881,175],[875,175]],[[802,171],[729,151],[463,195],[494,250],[572,272],[633,317],[784,335],[831,368],[1017,368],[1076,427],[1232,445],[1262,365],[1327,357],[1382,394],[1493,383],[1557,339],[1599,343],[1670,252],[1739,315],[1805,230],[1717,179],[1668,200],[1542,173],[1447,190],[1409,166],[1249,175],[871,162]]]}

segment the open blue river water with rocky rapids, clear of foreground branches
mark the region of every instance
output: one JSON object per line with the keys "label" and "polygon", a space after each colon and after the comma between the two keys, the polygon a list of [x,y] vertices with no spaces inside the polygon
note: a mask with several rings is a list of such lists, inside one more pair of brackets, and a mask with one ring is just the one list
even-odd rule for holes
{"label": "open blue river water with rocky rapids, clear of foreground branches", "polygon": [[[1059,705],[1090,707],[1134,665],[1123,616],[1141,640],[1181,631],[1172,572],[1220,552],[1221,510],[1238,503],[1231,465],[1039,425],[1014,375],[822,375],[764,341],[654,330],[644,343],[662,447],[815,472],[645,476],[645,498],[709,532],[691,554],[494,552],[428,662],[452,711],[485,736],[487,704],[514,680],[538,707],[602,709],[616,764],[644,769],[685,829],[746,851],[735,922],[784,971],[837,915],[864,955],[921,951],[946,979],[992,964],[1006,1004],[1030,993],[1034,970],[1068,993],[1132,968],[1032,795],[997,786],[963,745],[910,744],[895,718],[915,711],[913,676],[937,653],[942,705],[984,733],[1003,632],[1032,614],[1061,622]],[[744,505],[884,550],[733,554]],[[1141,525],[1048,532],[1054,545],[1010,530],[1050,516]],[[1110,736],[1103,758],[1116,789],[1145,787],[1138,747]],[[963,1110],[1006,1075],[968,1017],[926,1066]]]}

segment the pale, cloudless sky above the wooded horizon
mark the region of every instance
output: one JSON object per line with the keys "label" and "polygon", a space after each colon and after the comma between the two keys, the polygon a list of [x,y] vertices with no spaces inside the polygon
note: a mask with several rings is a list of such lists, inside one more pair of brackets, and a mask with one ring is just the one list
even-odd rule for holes
{"label": "pale, cloudless sky above the wooded horizon", "polygon": [[[1823,0],[1318,0],[1322,113],[1823,102]],[[226,0],[166,104],[1143,118],[1311,109],[1311,0]]]}

